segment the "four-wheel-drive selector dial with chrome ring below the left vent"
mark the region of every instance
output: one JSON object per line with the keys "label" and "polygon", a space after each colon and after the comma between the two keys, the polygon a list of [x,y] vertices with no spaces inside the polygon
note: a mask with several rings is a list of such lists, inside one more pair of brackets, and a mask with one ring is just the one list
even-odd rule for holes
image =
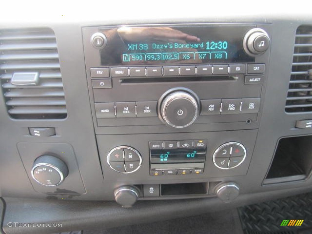
{"label": "four-wheel-drive selector dial with chrome ring below the left vent", "polygon": [[68,175],[68,168],[61,159],[51,155],[42,155],[35,160],[31,173],[37,183],[57,186]]}

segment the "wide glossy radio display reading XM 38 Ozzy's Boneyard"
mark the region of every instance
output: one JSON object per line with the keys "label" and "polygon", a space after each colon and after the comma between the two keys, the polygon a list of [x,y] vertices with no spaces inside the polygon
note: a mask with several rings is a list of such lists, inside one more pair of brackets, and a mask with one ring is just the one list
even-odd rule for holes
{"label": "wide glossy radio display reading XM 38 Ozzy's Boneyard", "polygon": [[254,62],[243,50],[250,25],[104,28],[101,65]]}

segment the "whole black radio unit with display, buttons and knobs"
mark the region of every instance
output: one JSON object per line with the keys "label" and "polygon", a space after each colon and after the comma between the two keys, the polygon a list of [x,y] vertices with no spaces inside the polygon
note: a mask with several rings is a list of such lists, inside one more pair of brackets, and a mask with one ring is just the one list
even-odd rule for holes
{"label": "whole black radio unit with display, buttons and knobs", "polygon": [[95,125],[157,133],[256,123],[270,33],[269,24],[83,28]]}

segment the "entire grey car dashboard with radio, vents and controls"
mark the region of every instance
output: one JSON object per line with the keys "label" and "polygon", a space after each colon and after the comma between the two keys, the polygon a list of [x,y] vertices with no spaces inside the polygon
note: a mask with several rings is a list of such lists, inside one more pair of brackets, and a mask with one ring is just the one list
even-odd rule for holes
{"label": "entire grey car dashboard with radio, vents and controls", "polygon": [[5,233],[164,220],[311,191],[311,15],[183,18],[182,8],[168,18],[0,22]]}

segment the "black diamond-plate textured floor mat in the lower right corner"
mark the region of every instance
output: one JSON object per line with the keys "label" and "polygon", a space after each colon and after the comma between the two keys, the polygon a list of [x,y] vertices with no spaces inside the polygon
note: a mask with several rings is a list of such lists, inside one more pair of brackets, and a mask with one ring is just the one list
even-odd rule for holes
{"label": "black diamond-plate textured floor mat in the lower right corner", "polygon": [[238,208],[244,234],[312,233],[312,193]]}

